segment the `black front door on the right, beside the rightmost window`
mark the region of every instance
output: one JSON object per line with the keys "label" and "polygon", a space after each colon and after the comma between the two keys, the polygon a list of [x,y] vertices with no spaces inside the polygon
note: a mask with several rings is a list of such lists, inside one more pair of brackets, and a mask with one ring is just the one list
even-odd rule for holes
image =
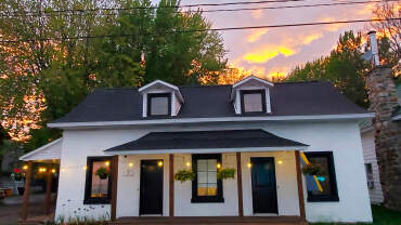
{"label": "black front door on the right, beside the rightmost window", "polygon": [[254,213],[277,213],[274,158],[250,158]]}

